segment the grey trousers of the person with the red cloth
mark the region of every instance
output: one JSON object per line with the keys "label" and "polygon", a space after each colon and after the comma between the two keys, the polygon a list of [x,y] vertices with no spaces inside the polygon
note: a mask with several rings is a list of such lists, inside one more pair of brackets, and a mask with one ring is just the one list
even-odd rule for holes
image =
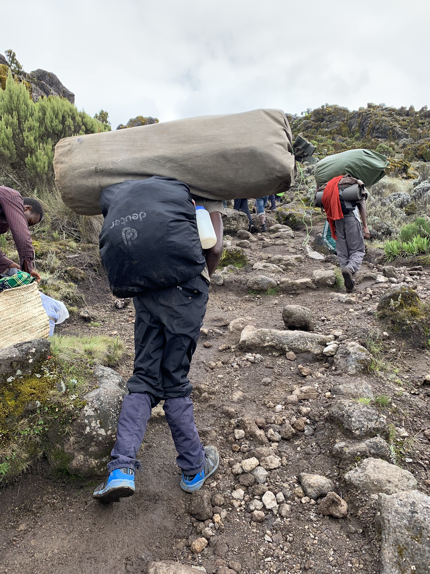
{"label": "grey trousers of the person with the red cloth", "polygon": [[355,215],[348,215],[335,222],[336,251],[341,269],[348,267],[353,273],[361,267],[366,254],[363,228]]}

